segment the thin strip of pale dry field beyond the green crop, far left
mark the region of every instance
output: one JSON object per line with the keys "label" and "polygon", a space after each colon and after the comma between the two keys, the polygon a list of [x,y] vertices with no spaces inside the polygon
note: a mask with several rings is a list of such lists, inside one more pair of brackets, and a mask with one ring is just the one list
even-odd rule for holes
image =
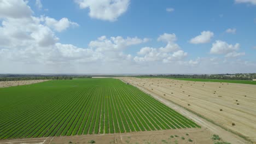
{"label": "thin strip of pale dry field beyond the green crop, far left", "polygon": [[1,87],[12,87],[12,86],[21,86],[21,85],[30,85],[32,83],[44,82],[49,80],[27,80],[27,81],[0,81]]}

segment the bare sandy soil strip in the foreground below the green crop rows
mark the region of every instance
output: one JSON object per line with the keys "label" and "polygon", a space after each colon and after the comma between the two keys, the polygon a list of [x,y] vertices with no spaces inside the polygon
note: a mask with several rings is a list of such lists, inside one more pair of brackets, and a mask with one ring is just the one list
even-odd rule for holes
{"label": "bare sandy soil strip in the foreground below the green crop rows", "polygon": [[[188,134],[188,135],[187,135]],[[207,129],[176,129],[160,131],[140,131],[125,134],[105,134],[105,135],[79,135],[79,136],[59,136],[43,137],[38,139],[16,139],[0,140],[0,144],[5,143],[88,143],[94,140],[96,143],[214,143],[212,133]],[[172,136],[172,137],[171,137]],[[177,137],[176,137],[177,136]],[[184,140],[182,139],[184,137]],[[189,142],[191,139],[192,142]],[[222,141],[222,140],[220,140]]]}

